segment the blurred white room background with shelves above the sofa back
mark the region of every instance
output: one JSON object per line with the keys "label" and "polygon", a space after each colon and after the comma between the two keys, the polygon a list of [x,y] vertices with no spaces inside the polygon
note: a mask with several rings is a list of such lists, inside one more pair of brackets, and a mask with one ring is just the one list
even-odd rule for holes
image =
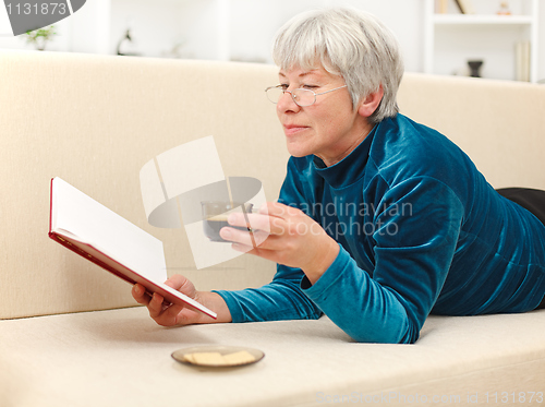
{"label": "blurred white room background with shelves above the sofa back", "polygon": [[[55,24],[45,51],[272,63],[271,39],[283,22],[304,10],[347,5],[390,27],[407,71],[545,79],[545,0],[463,0],[465,14],[460,1],[87,0]],[[0,9],[0,48],[36,49],[26,37],[13,36]],[[476,71],[469,61],[481,61]]]}

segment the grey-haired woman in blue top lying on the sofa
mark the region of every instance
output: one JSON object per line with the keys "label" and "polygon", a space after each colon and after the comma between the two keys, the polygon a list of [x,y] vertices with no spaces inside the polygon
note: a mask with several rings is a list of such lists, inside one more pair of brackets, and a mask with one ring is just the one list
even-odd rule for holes
{"label": "grey-haired woman in blue top lying on the sofa", "polygon": [[[217,322],[317,319],[359,342],[413,343],[427,315],[525,312],[545,294],[545,226],[498,194],[438,132],[398,113],[403,64],[390,32],[344,9],[295,16],[277,35],[276,104],[291,158],[277,203],[233,248],[278,263],[257,289],[167,284]],[[244,226],[231,215],[232,226]],[[162,298],[133,297],[161,325],[214,322]]]}

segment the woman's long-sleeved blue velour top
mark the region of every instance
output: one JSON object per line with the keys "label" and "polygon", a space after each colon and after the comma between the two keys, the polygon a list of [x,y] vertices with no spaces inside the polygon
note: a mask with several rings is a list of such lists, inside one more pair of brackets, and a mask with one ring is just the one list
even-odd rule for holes
{"label": "woman's long-sleeved blue velour top", "polygon": [[334,166],[291,157],[279,202],[318,222],[339,254],[314,285],[278,265],[264,287],[216,291],[233,322],[325,313],[358,342],[414,343],[429,313],[525,312],[544,297],[545,226],[402,115]]}

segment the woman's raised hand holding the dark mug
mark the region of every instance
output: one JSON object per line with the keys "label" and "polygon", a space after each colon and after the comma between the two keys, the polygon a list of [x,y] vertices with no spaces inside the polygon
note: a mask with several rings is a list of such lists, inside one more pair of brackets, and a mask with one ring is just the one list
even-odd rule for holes
{"label": "woman's raised hand holding the dark mug", "polygon": [[[271,202],[246,216],[252,234],[225,227],[220,236],[232,241],[235,250],[301,268],[312,284],[339,253],[338,243],[319,224],[298,208]],[[247,226],[242,213],[229,215],[228,222],[231,226]]]}

